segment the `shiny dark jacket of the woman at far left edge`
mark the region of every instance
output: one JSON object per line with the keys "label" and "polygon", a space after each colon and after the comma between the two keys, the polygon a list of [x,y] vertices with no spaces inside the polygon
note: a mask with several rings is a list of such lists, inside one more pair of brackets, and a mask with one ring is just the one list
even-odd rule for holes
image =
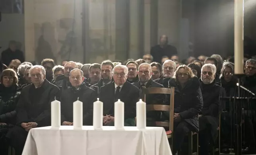
{"label": "shiny dark jacket of the woman at far left edge", "polygon": [[21,89],[14,85],[4,87],[0,84],[0,122],[6,124],[16,124],[16,105],[19,100]]}

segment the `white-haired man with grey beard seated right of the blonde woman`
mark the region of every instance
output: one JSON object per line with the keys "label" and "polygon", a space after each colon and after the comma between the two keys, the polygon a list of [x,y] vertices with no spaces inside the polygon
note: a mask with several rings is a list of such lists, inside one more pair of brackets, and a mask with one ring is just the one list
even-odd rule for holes
{"label": "white-haired man with grey beard seated right of the blonde woman", "polygon": [[201,70],[201,91],[204,106],[199,115],[199,142],[201,155],[208,155],[208,148],[212,148],[218,136],[220,96],[224,91],[221,86],[214,83],[216,74],[214,64],[204,64]]}

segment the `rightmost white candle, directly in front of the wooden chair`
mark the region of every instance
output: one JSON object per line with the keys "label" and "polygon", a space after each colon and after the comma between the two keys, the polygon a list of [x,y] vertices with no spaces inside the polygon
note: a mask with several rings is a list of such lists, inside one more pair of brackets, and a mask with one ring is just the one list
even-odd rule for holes
{"label": "rightmost white candle, directly in front of the wooden chair", "polygon": [[136,103],[136,126],[138,129],[146,127],[146,103],[142,99]]}

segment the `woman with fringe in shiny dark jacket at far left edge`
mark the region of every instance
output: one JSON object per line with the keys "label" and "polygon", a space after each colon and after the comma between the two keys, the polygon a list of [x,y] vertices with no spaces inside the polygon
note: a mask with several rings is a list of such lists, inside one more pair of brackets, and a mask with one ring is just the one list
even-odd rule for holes
{"label": "woman with fringe in shiny dark jacket at far left edge", "polygon": [[[13,69],[6,69],[0,76],[0,152],[8,155],[8,144],[5,135],[8,129],[16,124],[16,104],[20,89],[18,77]],[[6,153],[6,154],[5,154]]]}

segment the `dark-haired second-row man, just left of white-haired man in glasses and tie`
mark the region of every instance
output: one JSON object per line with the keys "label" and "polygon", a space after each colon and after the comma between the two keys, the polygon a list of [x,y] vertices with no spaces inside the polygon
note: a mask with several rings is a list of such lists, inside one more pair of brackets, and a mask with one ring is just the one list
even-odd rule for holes
{"label": "dark-haired second-row man, just left of white-haired man in glasses and tie", "polygon": [[94,89],[97,93],[103,85],[107,85],[112,82],[112,70],[114,64],[111,61],[103,61],[101,63],[101,79],[95,85],[92,85],[91,88]]}

